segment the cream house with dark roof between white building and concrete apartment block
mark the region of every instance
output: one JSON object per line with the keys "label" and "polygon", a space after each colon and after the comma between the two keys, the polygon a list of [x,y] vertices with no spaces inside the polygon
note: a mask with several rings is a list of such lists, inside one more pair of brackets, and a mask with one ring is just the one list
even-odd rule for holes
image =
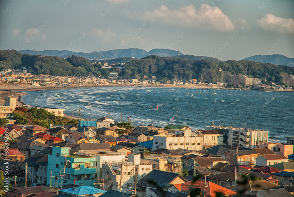
{"label": "cream house with dark roof between white building and concrete apartment block", "polygon": [[199,136],[202,137],[203,147],[209,148],[211,146],[223,145],[223,133],[219,130],[197,130]]}

